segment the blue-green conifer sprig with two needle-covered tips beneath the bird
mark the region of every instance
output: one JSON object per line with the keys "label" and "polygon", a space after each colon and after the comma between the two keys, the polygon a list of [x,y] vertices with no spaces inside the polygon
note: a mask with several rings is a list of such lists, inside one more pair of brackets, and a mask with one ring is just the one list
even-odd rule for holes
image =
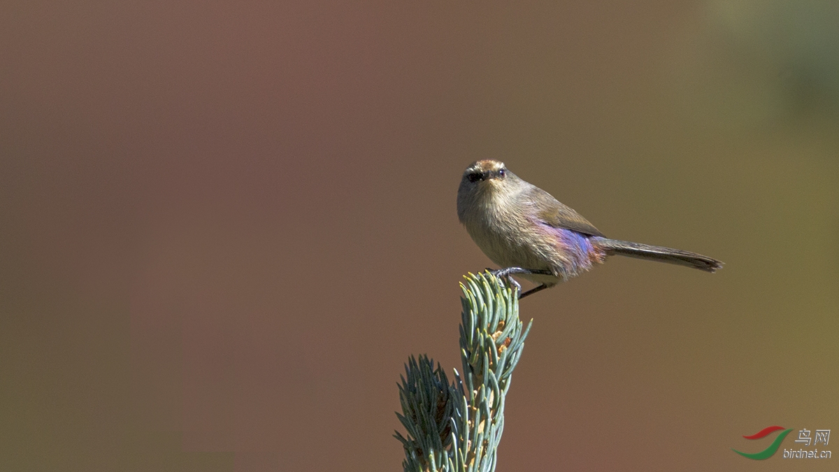
{"label": "blue-green conifer sprig with two needle-covered tips beneath the bird", "polygon": [[451,384],[427,356],[412,356],[399,385],[406,472],[492,472],[504,428],[504,398],[524,348],[518,293],[489,274],[461,283],[461,362]]}

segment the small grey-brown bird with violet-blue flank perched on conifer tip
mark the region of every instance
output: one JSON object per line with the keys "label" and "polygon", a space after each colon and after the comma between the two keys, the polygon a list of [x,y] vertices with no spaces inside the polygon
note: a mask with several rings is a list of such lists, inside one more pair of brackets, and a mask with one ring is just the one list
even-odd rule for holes
{"label": "small grey-brown bird with violet-blue flank perched on conifer tip", "polygon": [[519,179],[498,160],[478,160],[463,172],[457,217],[472,240],[500,265],[495,274],[540,284],[519,298],[580,275],[609,255],[657,260],[714,272],[722,262],[702,254],[608,239],[550,193]]}

